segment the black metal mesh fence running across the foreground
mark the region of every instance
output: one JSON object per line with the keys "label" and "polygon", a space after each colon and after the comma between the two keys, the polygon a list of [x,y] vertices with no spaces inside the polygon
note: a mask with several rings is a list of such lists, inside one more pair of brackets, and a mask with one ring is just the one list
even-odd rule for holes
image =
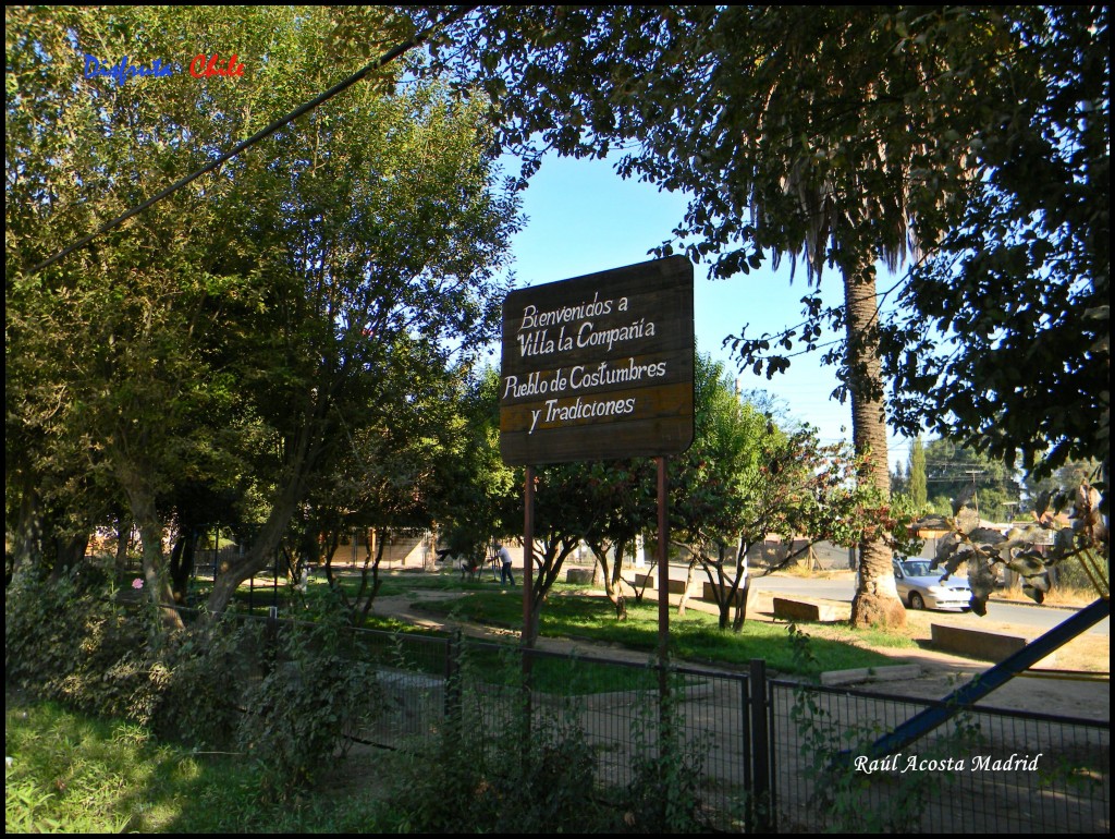
{"label": "black metal mesh fence running across the foreground", "polygon": [[[271,637],[283,626],[272,620]],[[719,830],[1109,830],[1109,723],[980,707],[880,756],[872,743],[940,703],[769,679],[760,662],[663,673],[651,660],[376,630],[351,630],[347,646],[377,665],[386,698],[353,732],[360,742],[433,742],[453,714],[498,732],[525,707],[535,725],[582,732],[598,781],[626,785],[668,732],[699,765],[702,816]]]}

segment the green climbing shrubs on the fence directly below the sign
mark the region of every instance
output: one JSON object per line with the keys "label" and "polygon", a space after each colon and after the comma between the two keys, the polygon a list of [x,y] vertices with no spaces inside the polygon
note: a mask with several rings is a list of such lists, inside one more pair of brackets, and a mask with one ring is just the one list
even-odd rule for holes
{"label": "green climbing shrubs on the fence directly below the sign", "polygon": [[[479,663],[465,654],[462,682]],[[692,832],[699,821],[705,745],[682,742],[676,714],[648,712],[636,732],[631,781],[598,783],[598,755],[575,708],[532,712],[517,657],[483,663],[484,681],[503,667],[493,696],[466,691],[430,746],[395,765],[390,817],[400,832]],[[532,677],[533,683],[533,677]],[[493,708],[496,713],[493,713]]]}

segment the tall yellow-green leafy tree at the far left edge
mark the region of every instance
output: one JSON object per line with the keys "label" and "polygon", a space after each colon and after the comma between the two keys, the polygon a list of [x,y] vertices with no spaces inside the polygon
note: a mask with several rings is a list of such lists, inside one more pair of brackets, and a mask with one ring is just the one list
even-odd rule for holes
{"label": "tall yellow-green leafy tree at the far left edge", "polygon": [[[30,269],[147,197],[152,184],[201,165],[225,138],[220,120],[197,107],[205,88],[186,74],[114,79],[86,71],[90,59],[107,56],[169,62],[185,48],[167,15],[6,10],[12,460],[33,475],[37,492],[56,493],[67,470],[115,486],[110,495],[126,501],[143,534],[146,589],[159,601],[171,598],[157,495],[186,464],[201,466],[200,452],[220,449],[212,435],[232,393],[211,355],[227,303],[245,296],[243,248],[212,203],[225,197],[226,182],[187,193],[41,273]],[[186,15],[214,33],[230,29],[211,10]],[[245,31],[259,30],[249,20]],[[235,109],[227,99],[235,91],[244,93],[217,88],[209,103]],[[45,404],[49,414],[39,409]],[[80,510],[94,498],[71,495],[69,503]]]}

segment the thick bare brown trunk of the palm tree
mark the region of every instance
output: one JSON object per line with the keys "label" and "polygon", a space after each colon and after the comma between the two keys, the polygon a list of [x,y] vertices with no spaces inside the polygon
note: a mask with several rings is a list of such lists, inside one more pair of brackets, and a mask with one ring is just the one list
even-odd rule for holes
{"label": "thick bare brown trunk of the palm tree", "polygon": [[[860,473],[861,484],[872,483],[890,498],[886,457],[886,415],[883,408],[879,363],[879,312],[875,269],[869,261],[849,270],[844,266],[844,306],[847,329],[846,373],[852,396],[852,441],[859,455],[871,461]],[[860,543],[859,587],[852,600],[852,626],[905,626],[891,568],[891,549],[882,539]]]}

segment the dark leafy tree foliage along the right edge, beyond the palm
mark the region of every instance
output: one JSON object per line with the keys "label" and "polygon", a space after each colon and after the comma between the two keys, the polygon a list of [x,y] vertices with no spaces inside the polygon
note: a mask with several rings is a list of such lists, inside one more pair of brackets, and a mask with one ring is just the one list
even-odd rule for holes
{"label": "dark leafy tree foliage along the right edge, beyond the palm", "polygon": [[1016,48],[970,141],[978,190],[886,330],[895,414],[1037,478],[1070,461],[1106,467],[1111,10],[999,13]]}

